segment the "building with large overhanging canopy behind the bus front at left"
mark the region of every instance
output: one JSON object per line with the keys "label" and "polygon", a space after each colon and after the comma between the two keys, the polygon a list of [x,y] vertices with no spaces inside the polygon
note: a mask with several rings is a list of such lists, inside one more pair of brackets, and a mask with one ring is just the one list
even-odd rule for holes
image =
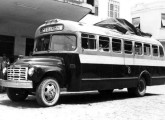
{"label": "building with large overhanging canopy behind the bus front at left", "polygon": [[28,56],[37,27],[48,19],[79,21],[92,6],[84,0],[0,1],[0,57]]}

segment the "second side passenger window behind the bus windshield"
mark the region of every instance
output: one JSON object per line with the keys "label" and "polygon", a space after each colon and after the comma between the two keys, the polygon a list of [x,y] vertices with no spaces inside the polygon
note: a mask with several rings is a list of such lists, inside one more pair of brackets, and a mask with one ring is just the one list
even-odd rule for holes
{"label": "second side passenger window behind the bus windshield", "polygon": [[100,51],[109,51],[109,38],[108,37],[99,37],[99,50]]}

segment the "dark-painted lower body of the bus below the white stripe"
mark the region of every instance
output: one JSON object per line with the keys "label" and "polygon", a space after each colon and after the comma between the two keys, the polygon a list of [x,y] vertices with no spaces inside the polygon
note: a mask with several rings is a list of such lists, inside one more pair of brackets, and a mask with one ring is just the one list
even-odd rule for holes
{"label": "dark-painted lower body of the bus below the white stripe", "polygon": [[[35,56],[40,56],[36,54]],[[76,53],[49,53],[42,56],[58,56],[63,58],[66,77],[63,81],[68,91],[104,90],[136,87],[143,71],[148,71],[151,80],[147,85],[165,83],[165,68],[154,66],[128,66],[114,64],[80,63]],[[129,71],[130,69],[130,71]]]}

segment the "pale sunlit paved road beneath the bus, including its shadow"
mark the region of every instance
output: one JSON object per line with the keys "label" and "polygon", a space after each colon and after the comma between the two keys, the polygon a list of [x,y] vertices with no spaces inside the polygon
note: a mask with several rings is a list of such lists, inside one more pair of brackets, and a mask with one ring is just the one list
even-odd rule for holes
{"label": "pale sunlit paved road beneath the bus, including its shadow", "polygon": [[42,108],[35,97],[21,103],[0,94],[0,120],[165,120],[165,85],[147,88],[145,97],[128,96],[126,89],[111,97],[97,92],[63,94],[57,106]]}

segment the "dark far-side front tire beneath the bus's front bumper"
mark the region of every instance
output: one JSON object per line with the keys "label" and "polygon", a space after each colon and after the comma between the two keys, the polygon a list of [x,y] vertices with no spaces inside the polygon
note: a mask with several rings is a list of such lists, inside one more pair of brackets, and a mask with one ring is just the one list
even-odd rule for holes
{"label": "dark far-side front tire beneath the bus's front bumper", "polygon": [[7,95],[14,102],[24,101],[28,92],[23,89],[7,88]]}

